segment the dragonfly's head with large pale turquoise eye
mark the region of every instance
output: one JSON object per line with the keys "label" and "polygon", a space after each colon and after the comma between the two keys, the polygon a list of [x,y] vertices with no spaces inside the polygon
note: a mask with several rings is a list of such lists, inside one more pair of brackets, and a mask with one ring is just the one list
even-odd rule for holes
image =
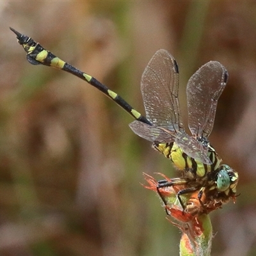
{"label": "dragonfly's head with large pale turquoise eye", "polygon": [[221,164],[218,168],[215,182],[218,191],[225,192],[227,196],[236,195],[238,173],[227,164]]}

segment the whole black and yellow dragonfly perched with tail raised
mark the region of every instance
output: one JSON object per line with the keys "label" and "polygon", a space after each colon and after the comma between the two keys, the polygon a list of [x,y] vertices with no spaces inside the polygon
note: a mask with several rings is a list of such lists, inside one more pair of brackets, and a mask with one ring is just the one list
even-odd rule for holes
{"label": "whole black and yellow dragonfly perched with tail raised", "polygon": [[[184,211],[190,212],[202,212],[201,208],[204,209],[205,205],[206,209],[207,205],[217,209],[218,205],[228,202],[230,198],[234,200],[238,173],[227,164],[221,164],[220,157],[208,140],[214,125],[217,102],[228,80],[228,72],[221,63],[209,61],[188,81],[190,136],[185,132],[180,114],[179,67],[168,51],[158,50],[143,72],[141,93],[145,117],[95,77],[61,60],[31,37],[10,29],[26,51],[29,63],[64,70],[100,90],[135,119],[129,124],[135,134],[151,141],[156,150],[172,160],[180,177],[159,180],[157,191],[160,196],[161,188],[182,187],[177,192],[177,198]],[[196,192],[196,201],[200,202],[200,206],[193,199]],[[184,204],[181,196],[187,194],[193,196]],[[164,204],[168,204],[163,196],[161,198]]]}

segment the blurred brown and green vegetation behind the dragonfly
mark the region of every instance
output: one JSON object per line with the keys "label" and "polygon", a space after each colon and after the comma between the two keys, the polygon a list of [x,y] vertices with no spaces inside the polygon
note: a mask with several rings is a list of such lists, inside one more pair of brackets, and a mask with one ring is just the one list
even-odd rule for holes
{"label": "blurred brown and green vegetation behind the dragonfly", "polygon": [[142,113],[141,74],[167,49],[185,123],[186,81],[209,60],[225,65],[210,140],[241,195],[211,214],[212,255],[256,254],[255,1],[1,1],[0,14],[0,255],[178,255],[180,238],[140,184],[143,172],[177,177],[170,160],[95,88],[30,65],[9,26]]}

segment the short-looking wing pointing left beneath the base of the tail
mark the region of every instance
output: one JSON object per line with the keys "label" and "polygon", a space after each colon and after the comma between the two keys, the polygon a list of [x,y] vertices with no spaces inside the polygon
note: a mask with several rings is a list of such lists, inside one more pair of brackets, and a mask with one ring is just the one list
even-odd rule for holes
{"label": "short-looking wing pointing left beneath the base of the tail", "polygon": [[175,140],[175,137],[170,131],[166,133],[158,127],[148,125],[140,121],[133,121],[129,124],[129,127],[135,134],[148,141],[166,143]]}

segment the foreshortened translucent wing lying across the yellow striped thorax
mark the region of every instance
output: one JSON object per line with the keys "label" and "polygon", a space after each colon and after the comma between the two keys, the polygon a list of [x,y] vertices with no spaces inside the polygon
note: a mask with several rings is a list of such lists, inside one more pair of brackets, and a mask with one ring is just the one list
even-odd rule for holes
{"label": "foreshortened translucent wing lying across the yellow striped thorax", "polygon": [[185,132],[178,132],[175,134],[175,143],[177,143],[188,156],[193,157],[204,164],[212,164],[208,157],[207,148]]}

